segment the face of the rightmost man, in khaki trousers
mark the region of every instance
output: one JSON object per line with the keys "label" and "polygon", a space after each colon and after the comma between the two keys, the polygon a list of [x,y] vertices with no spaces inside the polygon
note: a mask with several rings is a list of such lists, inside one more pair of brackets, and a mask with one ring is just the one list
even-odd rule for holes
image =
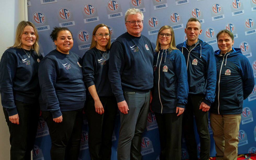
{"label": "face of the rightmost man, in khaki trousers", "polygon": [[221,54],[225,54],[232,50],[232,45],[234,44],[234,39],[232,40],[228,34],[222,33],[218,37],[218,47]]}

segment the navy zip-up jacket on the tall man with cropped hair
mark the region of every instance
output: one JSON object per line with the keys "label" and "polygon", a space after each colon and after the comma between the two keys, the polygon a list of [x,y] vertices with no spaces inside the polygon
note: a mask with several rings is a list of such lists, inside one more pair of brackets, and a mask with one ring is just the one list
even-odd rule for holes
{"label": "navy zip-up jacket on the tall man with cropped hair", "polygon": [[196,46],[188,50],[186,41],[177,45],[185,57],[190,94],[204,94],[204,103],[211,106],[215,98],[216,61],[212,46],[199,39]]}

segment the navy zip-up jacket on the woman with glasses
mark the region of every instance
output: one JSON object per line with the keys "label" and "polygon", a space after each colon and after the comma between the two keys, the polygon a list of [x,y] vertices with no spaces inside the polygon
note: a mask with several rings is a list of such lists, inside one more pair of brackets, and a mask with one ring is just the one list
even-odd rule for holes
{"label": "navy zip-up jacket on the woman with glasses", "polygon": [[185,108],[188,98],[188,76],[185,58],[179,50],[155,52],[152,111],[176,113]]}

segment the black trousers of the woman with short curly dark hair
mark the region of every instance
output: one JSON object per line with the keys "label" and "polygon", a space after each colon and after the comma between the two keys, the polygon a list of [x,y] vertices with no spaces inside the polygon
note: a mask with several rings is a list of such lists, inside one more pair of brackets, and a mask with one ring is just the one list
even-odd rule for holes
{"label": "black trousers of the woman with short curly dark hair", "polygon": [[63,120],[53,121],[50,111],[42,111],[42,116],[49,128],[51,137],[51,160],[77,160],[82,137],[83,108],[62,111]]}

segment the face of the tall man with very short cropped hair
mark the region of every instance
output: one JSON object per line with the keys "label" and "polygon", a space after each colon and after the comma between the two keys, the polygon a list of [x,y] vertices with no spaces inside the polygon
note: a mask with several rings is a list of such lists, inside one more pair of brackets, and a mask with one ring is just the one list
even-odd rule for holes
{"label": "face of the tall man with very short cropped hair", "polygon": [[202,33],[200,22],[198,21],[188,22],[187,27],[185,28],[185,33],[188,38],[188,43],[190,45],[195,44],[197,42],[198,35]]}

